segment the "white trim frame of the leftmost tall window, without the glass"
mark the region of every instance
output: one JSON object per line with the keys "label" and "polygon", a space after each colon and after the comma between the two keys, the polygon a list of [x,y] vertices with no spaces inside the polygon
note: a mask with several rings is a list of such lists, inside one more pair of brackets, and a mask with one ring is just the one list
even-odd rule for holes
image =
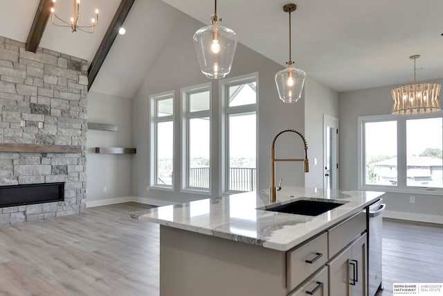
{"label": "white trim frame of the leftmost tall window, without the glass", "polygon": [[[168,121],[172,121],[172,126],[173,126],[173,132],[172,132],[172,145],[175,146],[175,121],[174,121],[174,116],[175,116],[175,112],[173,111],[173,114],[170,116],[161,116],[161,117],[157,117],[156,116],[156,101],[161,100],[161,99],[165,99],[165,98],[171,98],[172,97],[172,110],[174,110],[174,105],[175,105],[175,92],[174,91],[169,91],[169,92],[161,92],[159,94],[152,94],[149,96],[149,100],[150,100],[150,170],[149,170],[149,189],[155,189],[155,190],[161,190],[161,191],[174,191],[174,184],[175,184],[175,176],[172,177],[172,185],[161,185],[161,184],[156,184],[156,169],[157,169],[157,164],[156,164],[156,159],[157,159],[157,150],[156,150],[156,123],[161,123],[161,122],[168,122]],[[173,161],[173,166],[175,163],[175,147],[172,148],[172,157],[174,159]],[[175,171],[175,169],[173,170]]]}

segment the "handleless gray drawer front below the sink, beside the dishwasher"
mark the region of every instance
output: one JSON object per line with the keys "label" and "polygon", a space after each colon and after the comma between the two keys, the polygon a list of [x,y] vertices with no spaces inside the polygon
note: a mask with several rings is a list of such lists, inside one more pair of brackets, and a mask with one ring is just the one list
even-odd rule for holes
{"label": "handleless gray drawer front below the sink, beside the dishwasher", "polygon": [[344,247],[354,241],[354,238],[365,232],[365,229],[365,212],[360,212],[345,220],[343,223],[329,229],[327,232],[329,240],[329,259],[334,257],[338,252],[343,250]]}

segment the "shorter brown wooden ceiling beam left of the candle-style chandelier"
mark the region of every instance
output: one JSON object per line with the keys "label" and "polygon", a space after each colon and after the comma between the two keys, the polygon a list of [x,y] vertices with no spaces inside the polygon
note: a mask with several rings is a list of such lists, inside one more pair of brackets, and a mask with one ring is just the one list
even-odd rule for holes
{"label": "shorter brown wooden ceiling beam left of the candle-style chandelier", "polygon": [[30,27],[28,39],[26,40],[26,51],[37,51],[46,28],[49,15],[51,15],[51,0],[40,0],[33,25]]}

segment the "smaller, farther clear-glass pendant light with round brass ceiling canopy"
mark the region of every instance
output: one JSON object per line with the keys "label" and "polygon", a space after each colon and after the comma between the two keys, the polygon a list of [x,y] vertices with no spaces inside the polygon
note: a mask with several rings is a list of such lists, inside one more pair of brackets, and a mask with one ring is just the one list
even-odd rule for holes
{"label": "smaller, farther clear-glass pendant light with round brass ceiling canopy", "polygon": [[275,84],[284,103],[296,103],[300,99],[306,77],[305,71],[294,68],[291,60],[291,12],[296,9],[296,4],[292,3],[283,6],[283,11],[289,13],[289,61],[286,62],[287,69],[275,74]]}

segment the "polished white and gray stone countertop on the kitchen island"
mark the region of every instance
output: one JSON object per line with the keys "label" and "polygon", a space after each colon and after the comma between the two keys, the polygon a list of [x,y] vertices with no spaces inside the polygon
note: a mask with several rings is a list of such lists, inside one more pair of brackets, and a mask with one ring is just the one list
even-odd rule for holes
{"label": "polished white and gray stone countertop on the kitchen island", "polygon": [[345,202],[340,207],[318,216],[284,214],[258,209],[270,204],[269,194],[264,191],[172,204],[136,211],[131,216],[190,232],[287,251],[358,213],[379,200],[382,194],[383,192],[374,191],[323,191],[287,187],[278,191],[277,202],[272,204],[284,204],[299,198]]}

